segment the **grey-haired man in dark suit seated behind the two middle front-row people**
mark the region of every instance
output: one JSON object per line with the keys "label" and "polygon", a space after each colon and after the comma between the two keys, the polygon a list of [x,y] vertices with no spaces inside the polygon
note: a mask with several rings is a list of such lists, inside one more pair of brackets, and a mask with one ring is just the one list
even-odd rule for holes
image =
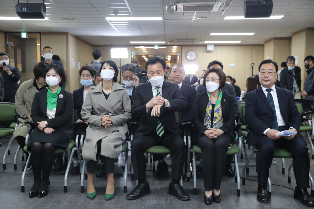
{"label": "grey-haired man in dark suit seated behind the two middle front-row people", "polygon": [[[188,103],[187,109],[180,112],[181,123],[192,122],[192,111],[194,100],[196,97],[195,89],[183,83],[184,74],[184,67],[182,64],[179,63],[172,65],[169,70],[171,82],[178,84],[179,88],[181,89],[182,95]],[[165,162],[163,155],[154,156],[154,160],[159,161],[157,170],[155,172],[156,176],[161,176],[164,173],[168,172],[168,164]]]}

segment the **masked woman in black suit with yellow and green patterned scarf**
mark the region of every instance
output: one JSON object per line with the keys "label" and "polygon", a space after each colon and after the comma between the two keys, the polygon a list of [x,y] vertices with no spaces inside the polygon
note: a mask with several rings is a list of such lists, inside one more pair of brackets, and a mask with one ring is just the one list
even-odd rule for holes
{"label": "masked woman in black suit with yellow and green patterned scarf", "polygon": [[192,122],[198,131],[197,145],[202,150],[204,202],[207,205],[221,201],[220,182],[228,147],[235,138],[233,97],[220,90],[225,82],[222,70],[207,70],[203,82],[207,92],[198,93],[194,102]]}

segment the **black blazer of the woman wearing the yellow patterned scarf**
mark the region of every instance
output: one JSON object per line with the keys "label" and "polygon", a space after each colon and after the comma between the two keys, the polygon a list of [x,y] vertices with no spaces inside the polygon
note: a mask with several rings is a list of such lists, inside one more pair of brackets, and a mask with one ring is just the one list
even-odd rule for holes
{"label": "black blazer of the woman wearing the yellow patterned scarf", "polygon": [[[201,136],[204,131],[208,130],[204,125],[204,117],[206,113],[206,107],[208,105],[208,95],[207,92],[198,93],[195,98],[192,121],[193,125],[197,131],[197,137]],[[234,99],[231,95],[227,93],[222,93],[221,97],[221,108],[222,108],[222,118],[223,126],[219,129],[223,130],[225,134],[228,134],[231,139],[235,139],[235,114],[234,114]],[[194,130],[195,130],[194,129]]]}

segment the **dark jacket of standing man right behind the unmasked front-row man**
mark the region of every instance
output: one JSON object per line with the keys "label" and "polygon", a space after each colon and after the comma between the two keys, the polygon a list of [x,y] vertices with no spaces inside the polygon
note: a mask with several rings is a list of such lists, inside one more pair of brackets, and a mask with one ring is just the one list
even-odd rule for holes
{"label": "dark jacket of standing man right behind the unmasked front-row man", "polygon": [[[292,91],[293,89],[293,76],[292,72],[288,68],[281,70],[280,73],[280,87],[283,89],[288,89]],[[298,66],[295,66],[295,75],[294,77],[296,78],[296,84],[299,87],[300,92],[301,90],[301,69]]]}

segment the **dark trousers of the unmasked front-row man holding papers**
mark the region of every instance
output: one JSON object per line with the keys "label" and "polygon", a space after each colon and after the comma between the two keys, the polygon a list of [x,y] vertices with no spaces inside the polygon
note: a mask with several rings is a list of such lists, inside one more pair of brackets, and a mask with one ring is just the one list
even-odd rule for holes
{"label": "dark trousers of the unmasked front-row man holding papers", "polygon": [[[287,130],[287,129],[283,129]],[[279,129],[279,131],[283,131]],[[283,137],[277,140],[262,136],[255,145],[258,149],[256,154],[257,181],[261,186],[267,186],[269,168],[272,163],[275,148],[287,149],[292,154],[293,171],[296,185],[301,188],[309,188],[310,158],[308,148],[300,133],[294,139],[287,140]]]}

